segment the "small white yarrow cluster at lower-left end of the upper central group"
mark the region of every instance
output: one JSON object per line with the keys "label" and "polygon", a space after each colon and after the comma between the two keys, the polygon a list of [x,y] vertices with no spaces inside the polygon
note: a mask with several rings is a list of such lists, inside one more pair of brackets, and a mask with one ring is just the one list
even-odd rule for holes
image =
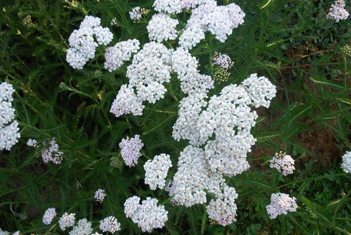
{"label": "small white yarrow cluster at lower-left end of the upper central group", "polygon": [[143,115],[143,100],[134,93],[132,86],[123,85],[111,105],[110,112],[116,117],[123,114]]}

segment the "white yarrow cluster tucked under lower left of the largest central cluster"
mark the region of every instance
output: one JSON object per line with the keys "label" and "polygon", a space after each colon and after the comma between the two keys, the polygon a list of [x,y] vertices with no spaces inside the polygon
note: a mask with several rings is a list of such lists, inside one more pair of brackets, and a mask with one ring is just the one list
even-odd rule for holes
{"label": "white yarrow cluster tucked under lower left of the largest central cluster", "polygon": [[221,174],[210,170],[203,149],[188,145],[180,152],[178,171],[169,193],[173,196],[172,202],[189,207],[205,203],[205,191],[221,196],[224,184]]}

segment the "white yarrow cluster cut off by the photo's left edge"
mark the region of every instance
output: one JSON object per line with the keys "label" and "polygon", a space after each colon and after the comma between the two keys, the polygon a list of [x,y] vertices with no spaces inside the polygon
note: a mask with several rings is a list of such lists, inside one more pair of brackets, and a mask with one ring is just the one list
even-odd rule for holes
{"label": "white yarrow cluster cut off by the photo's left edge", "polygon": [[0,84],[0,150],[10,149],[21,138],[20,128],[15,118],[15,108],[12,106],[15,89],[4,81]]}

